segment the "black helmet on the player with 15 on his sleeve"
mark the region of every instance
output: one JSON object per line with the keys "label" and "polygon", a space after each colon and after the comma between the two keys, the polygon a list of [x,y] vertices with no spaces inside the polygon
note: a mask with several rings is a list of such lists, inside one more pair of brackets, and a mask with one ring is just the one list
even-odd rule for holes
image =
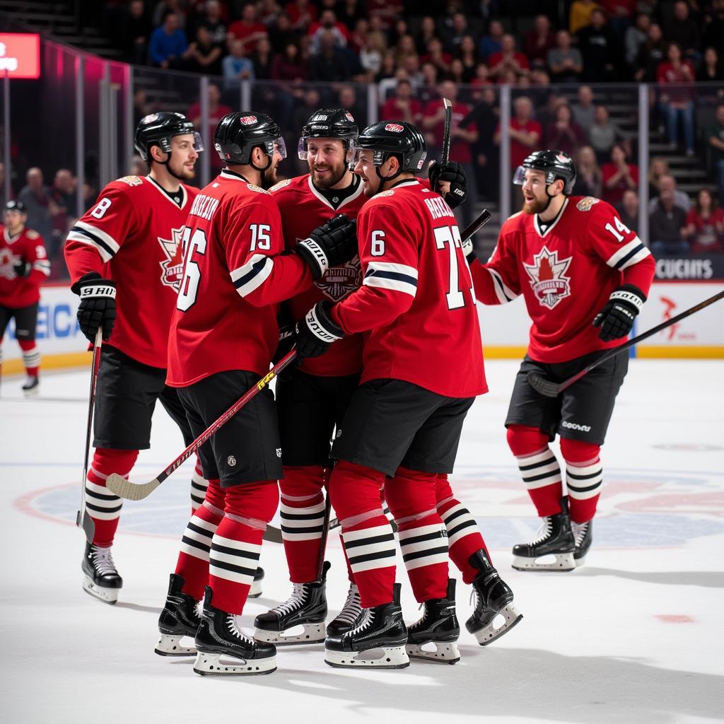
{"label": "black helmet on the player with 15 on his sleeve", "polygon": [[214,148],[227,164],[250,164],[251,151],[256,146],[261,146],[269,156],[269,164],[264,169],[257,169],[258,171],[264,171],[271,166],[274,151],[278,151],[282,159],[287,157],[282,130],[264,113],[227,113],[214,130]]}

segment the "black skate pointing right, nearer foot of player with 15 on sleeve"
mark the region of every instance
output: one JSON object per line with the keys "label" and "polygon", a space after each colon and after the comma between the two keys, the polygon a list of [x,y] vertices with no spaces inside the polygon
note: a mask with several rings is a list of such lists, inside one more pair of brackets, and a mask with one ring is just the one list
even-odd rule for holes
{"label": "black skate pointing right, nearer foot of player with 15 on sleeve", "polygon": [[276,671],[274,644],[263,644],[246,636],[233,613],[211,605],[212,595],[211,587],[206,586],[193,670],[202,676],[255,676]]}

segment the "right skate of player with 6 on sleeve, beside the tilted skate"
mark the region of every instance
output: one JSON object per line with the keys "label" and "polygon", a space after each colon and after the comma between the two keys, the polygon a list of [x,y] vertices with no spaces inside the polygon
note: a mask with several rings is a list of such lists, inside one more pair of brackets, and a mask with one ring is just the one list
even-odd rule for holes
{"label": "right skate of player with 6 on sleeve, beside the tilted skate", "polygon": [[[445,598],[434,598],[422,605],[422,618],[408,627],[408,656],[429,659],[444,664],[460,661],[457,641],[460,638],[460,624],[455,615],[455,579],[447,581]],[[434,644],[434,651],[424,649],[425,644]]]}

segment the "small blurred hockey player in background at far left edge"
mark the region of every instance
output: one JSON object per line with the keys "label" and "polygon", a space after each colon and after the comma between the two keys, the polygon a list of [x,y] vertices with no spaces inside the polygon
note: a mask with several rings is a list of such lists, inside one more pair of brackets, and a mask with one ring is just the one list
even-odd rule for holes
{"label": "small blurred hockey player in background at far left edge", "polygon": [[[50,276],[50,262],[43,237],[27,229],[28,214],[21,201],[8,201],[3,211],[3,236],[0,240],[0,345],[11,319],[15,320],[15,338],[22,350],[25,382],[22,392],[37,395],[41,353],[35,344],[38,323],[40,285]],[[0,346],[0,368],[2,349]]]}

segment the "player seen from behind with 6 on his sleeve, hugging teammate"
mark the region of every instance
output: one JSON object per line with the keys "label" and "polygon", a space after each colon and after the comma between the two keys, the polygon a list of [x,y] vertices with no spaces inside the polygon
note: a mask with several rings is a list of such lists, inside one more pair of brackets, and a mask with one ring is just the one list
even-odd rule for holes
{"label": "player seen from behind with 6 on his sleeve, hugging teammate", "polygon": [[[439,475],[452,471],[474,397],[487,387],[455,217],[416,179],[425,157],[424,138],[410,123],[380,122],[362,132],[353,161],[371,198],[358,217],[363,285],[334,306],[319,301],[298,324],[303,357],[323,354],[348,334],[366,335],[361,386],[332,447],[337,465],[329,486],[363,615],[350,631],[327,636],[325,660],[333,666],[402,668],[426,641],[437,644],[439,660],[459,658],[436,487]],[[451,369],[455,374],[445,374]],[[425,607],[409,632],[382,484],[413,592]],[[475,568],[475,556],[466,565],[473,578],[500,581],[489,561],[485,571]]]}

